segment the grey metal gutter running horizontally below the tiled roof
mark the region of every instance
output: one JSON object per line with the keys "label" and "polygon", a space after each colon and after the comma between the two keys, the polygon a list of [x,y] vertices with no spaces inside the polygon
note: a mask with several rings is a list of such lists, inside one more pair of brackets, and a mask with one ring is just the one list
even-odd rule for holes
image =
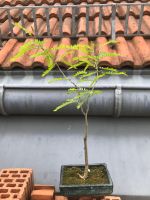
{"label": "grey metal gutter running horizontally below the tiled roof", "polygon": [[[68,106],[59,112],[52,110],[65,101],[67,81],[49,84],[54,73],[41,78],[38,73],[0,74],[1,115],[80,115],[80,111]],[[69,73],[67,73],[69,76]],[[89,114],[108,117],[150,116],[150,75],[129,75],[128,77],[107,77],[101,79],[96,89],[103,93],[90,100]],[[86,83],[82,86],[86,86]]]}

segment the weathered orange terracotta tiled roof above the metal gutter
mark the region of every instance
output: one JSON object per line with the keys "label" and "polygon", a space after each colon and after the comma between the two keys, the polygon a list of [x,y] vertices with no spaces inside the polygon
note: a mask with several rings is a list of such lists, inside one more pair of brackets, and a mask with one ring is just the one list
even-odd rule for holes
{"label": "weathered orange terracotta tiled roof above the metal gutter", "polygon": [[[73,3],[71,1],[48,1],[48,0],[41,0],[41,1],[25,1],[28,5],[48,5],[55,3],[56,5],[60,5],[60,3],[67,2],[68,4],[72,5]],[[0,1],[1,6],[5,5],[23,5],[25,3],[24,1],[19,0],[6,0],[6,1]],[[77,1],[76,1],[77,2]],[[82,1],[82,4],[87,4],[89,1]],[[91,0],[90,3],[95,3],[96,1]],[[102,1],[100,1],[102,2]],[[117,0],[114,1],[107,1],[104,0],[104,3],[112,3],[117,2]],[[127,1],[119,1],[118,2],[127,2]],[[133,1],[138,3],[139,1]],[[81,3],[78,1],[78,3]],[[99,8],[93,7],[89,9],[89,35],[99,33]],[[116,26],[115,26],[115,32],[118,34],[123,34],[125,32],[124,26],[125,26],[125,14],[126,14],[126,6],[120,6],[117,9],[117,16],[116,16]],[[49,24],[50,24],[50,34],[53,36],[56,36],[59,34],[59,16],[58,16],[58,8],[52,8],[49,13]],[[76,18],[78,20],[78,27],[77,27],[77,33],[79,35],[84,35],[86,33],[86,8],[80,8],[78,13],[76,13]],[[10,12],[11,18],[14,20],[14,22],[20,22],[20,14],[18,12],[18,9],[12,10]],[[62,33],[64,35],[71,35],[72,33],[72,9],[70,8],[64,8],[62,10]],[[141,31],[142,33],[149,34],[150,33],[150,6],[144,7],[144,13],[142,18],[142,27]],[[31,9],[24,9],[23,10],[23,16],[25,18],[25,28],[28,29],[32,34],[34,34],[33,29],[33,16],[31,13]],[[140,8],[138,5],[131,6],[130,9],[130,15],[129,15],[129,21],[128,21],[128,28],[129,33],[136,33],[138,31],[138,21],[140,16]],[[46,15],[45,11],[40,8],[36,11],[36,21],[37,21],[37,30],[38,34],[47,35],[47,28],[46,28]],[[4,35],[10,35],[10,29],[9,29],[9,20],[7,18],[6,11],[0,10],[0,29],[1,33]],[[111,9],[109,7],[103,8],[103,17],[102,17],[102,33],[104,34],[103,37],[98,37],[94,40],[96,45],[105,43],[108,39],[106,36],[111,34]],[[18,27],[13,27],[13,33],[17,36],[23,36],[23,32]],[[27,39],[32,40],[32,39]],[[133,68],[141,68],[141,67],[147,67],[150,66],[150,38],[144,38],[142,36],[135,36],[133,38],[125,38],[123,36],[117,36],[116,40],[118,41],[116,47],[112,49],[110,46],[105,45],[102,46],[102,51],[105,52],[116,52],[119,53],[121,56],[114,58],[111,57],[105,57],[100,60],[100,65],[103,66],[114,66],[117,68],[130,66]],[[0,50],[0,68],[2,69],[12,69],[14,67],[21,67],[24,69],[32,69],[36,66],[41,66],[42,68],[46,68],[46,61],[42,56],[37,58],[29,58],[29,56],[35,51],[32,50],[27,55],[23,56],[22,58],[17,59],[15,62],[11,62],[10,58],[15,55],[18,52],[19,47],[24,43],[25,41],[17,41],[16,39],[8,39],[3,42],[3,47]],[[44,39],[44,45],[46,48],[50,48],[52,46],[57,46],[59,44],[72,44],[72,43],[78,43],[78,44],[90,44],[91,41],[87,37],[78,38],[72,41],[70,38],[61,38],[59,40],[54,40],[50,38]],[[97,47],[95,49],[95,52],[97,52]],[[62,60],[60,60],[60,56],[63,54],[63,50],[59,50],[55,52],[56,58],[55,60],[61,64],[64,65]],[[82,56],[83,53],[80,51],[78,52],[79,56]],[[67,60],[71,61],[73,55],[67,55]]]}

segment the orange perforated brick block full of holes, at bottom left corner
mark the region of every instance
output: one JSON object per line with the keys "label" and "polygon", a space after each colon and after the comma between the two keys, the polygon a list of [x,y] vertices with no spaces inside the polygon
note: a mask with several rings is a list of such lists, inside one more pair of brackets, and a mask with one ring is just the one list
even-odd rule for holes
{"label": "orange perforated brick block full of holes, at bottom left corner", "polygon": [[32,169],[13,168],[0,171],[0,200],[28,200],[32,189]]}

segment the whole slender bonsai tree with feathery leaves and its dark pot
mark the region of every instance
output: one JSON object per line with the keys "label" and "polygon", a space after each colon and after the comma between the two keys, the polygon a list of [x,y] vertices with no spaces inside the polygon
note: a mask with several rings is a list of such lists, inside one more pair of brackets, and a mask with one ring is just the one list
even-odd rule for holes
{"label": "whole slender bonsai tree with feathery leaves and its dark pot", "polygon": [[[21,27],[21,25],[18,26]],[[23,27],[22,29],[25,30]],[[112,45],[114,43],[116,41],[109,41],[102,45]],[[107,75],[125,75],[124,72],[118,71],[115,68],[99,66],[100,59],[106,56],[115,57],[119,55],[117,53],[103,52],[100,46],[95,46],[94,43],[90,45],[58,45],[46,49],[44,48],[43,41],[34,39],[21,46],[19,52],[12,60],[16,60],[33,48],[37,48],[38,53],[31,55],[32,58],[44,56],[47,61],[48,68],[42,74],[43,77],[57,69],[60,75],[50,80],[50,82],[65,80],[72,84],[72,87],[67,90],[68,98],[54,108],[54,112],[65,109],[66,106],[72,104],[76,109],[80,109],[84,117],[84,164],[61,167],[60,192],[66,196],[111,194],[113,183],[106,164],[89,165],[87,142],[88,113],[90,99],[102,92],[95,89],[97,82]],[[59,50],[63,50],[63,53],[60,55],[60,62],[58,63],[55,61],[55,54]],[[67,55],[72,56],[71,61],[67,61]],[[60,63],[67,65],[67,70],[72,71],[70,76],[67,76],[65,71],[62,70]],[[82,86],[82,82],[86,82],[85,87]]]}

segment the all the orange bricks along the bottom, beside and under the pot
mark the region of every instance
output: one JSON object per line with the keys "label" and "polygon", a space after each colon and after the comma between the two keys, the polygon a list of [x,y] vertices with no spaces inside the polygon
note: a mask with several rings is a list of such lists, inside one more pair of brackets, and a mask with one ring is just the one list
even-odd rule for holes
{"label": "all the orange bricks along the bottom, beside and under the pot", "polygon": [[67,198],[55,194],[55,187],[34,185],[32,169],[0,171],[0,200],[121,200],[116,196]]}

